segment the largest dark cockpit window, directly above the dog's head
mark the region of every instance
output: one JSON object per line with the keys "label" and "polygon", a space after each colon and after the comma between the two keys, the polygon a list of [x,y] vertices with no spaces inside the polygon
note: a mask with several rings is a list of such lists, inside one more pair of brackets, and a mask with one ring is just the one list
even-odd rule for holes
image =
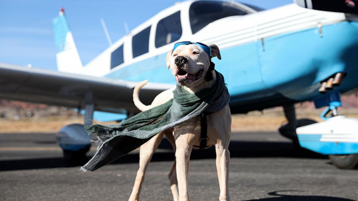
{"label": "largest dark cockpit window, directly above the dog's head", "polygon": [[248,11],[235,4],[222,1],[195,1],[189,9],[193,34],[215,20],[233,15],[246,15]]}

